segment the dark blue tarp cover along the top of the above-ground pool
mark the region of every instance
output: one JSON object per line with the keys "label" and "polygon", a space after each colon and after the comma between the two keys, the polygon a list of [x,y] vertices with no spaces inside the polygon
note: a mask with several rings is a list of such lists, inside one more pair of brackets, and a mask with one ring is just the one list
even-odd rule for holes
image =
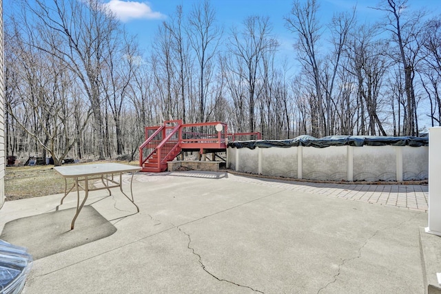
{"label": "dark blue tarp cover along the top of the above-ground pool", "polygon": [[287,140],[249,140],[249,141],[235,141],[228,143],[229,147],[233,148],[269,148],[269,147],[316,147],[325,148],[329,146],[429,146],[429,138],[401,136],[327,136],[323,138],[314,138],[313,136],[302,135],[294,139]]}

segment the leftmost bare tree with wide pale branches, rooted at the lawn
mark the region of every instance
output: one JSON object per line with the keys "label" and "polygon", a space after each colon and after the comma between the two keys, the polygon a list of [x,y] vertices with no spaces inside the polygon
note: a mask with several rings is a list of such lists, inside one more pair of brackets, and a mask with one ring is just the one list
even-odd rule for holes
{"label": "leftmost bare tree with wide pale branches, rooted at the lawn", "polygon": [[[28,37],[23,38],[19,27]],[[8,114],[43,148],[43,158],[48,151],[54,165],[61,165],[79,140],[78,134],[88,122],[90,109],[83,109],[79,132],[75,132],[74,114],[70,111],[79,99],[72,92],[77,87],[75,78],[53,54],[39,49],[41,31],[32,31],[26,23],[14,23],[10,29],[6,32],[6,43],[14,51],[7,50],[6,59]]]}

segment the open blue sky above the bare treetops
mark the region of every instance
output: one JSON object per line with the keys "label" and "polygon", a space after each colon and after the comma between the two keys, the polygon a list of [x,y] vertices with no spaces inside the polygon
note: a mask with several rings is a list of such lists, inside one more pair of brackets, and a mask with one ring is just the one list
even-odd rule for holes
{"label": "open blue sky above the bare treetops", "polygon": [[[176,11],[176,6],[183,6],[184,14],[199,0],[105,0],[110,9],[125,23],[127,30],[136,34],[143,50],[149,51],[158,25],[167,20]],[[203,0],[201,0],[203,1]],[[306,1],[306,0],[305,0]],[[334,13],[349,12],[357,6],[359,23],[373,22],[384,14],[369,6],[376,6],[378,0],[318,0],[320,3],[320,21],[326,25]],[[291,0],[212,0],[218,23],[223,26],[225,33],[232,25],[240,27],[242,21],[251,15],[269,17],[273,24],[273,32],[280,43],[282,56],[292,52],[294,35],[285,28],[283,17],[289,14],[293,1]],[[426,8],[431,15],[440,15],[440,0],[409,0],[412,9]]]}

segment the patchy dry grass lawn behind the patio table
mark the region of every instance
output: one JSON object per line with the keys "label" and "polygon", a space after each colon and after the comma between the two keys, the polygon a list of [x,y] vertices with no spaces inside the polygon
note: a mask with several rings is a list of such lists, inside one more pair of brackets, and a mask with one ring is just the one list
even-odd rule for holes
{"label": "patchy dry grass lawn behind the patio table", "polygon": [[[136,160],[120,163],[138,165]],[[72,184],[73,180],[68,179],[68,186]],[[6,167],[5,193],[6,201],[64,193],[64,178],[54,170],[53,165]]]}

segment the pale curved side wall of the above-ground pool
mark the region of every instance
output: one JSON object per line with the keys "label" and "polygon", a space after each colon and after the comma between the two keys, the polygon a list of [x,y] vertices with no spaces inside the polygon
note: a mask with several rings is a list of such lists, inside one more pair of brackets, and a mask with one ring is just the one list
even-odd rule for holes
{"label": "pale curved side wall of the above-ground pool", "polygon": [[228,167],[267,176],[309,180],[424,180],[429,147],[331,146],[228,148]]}

